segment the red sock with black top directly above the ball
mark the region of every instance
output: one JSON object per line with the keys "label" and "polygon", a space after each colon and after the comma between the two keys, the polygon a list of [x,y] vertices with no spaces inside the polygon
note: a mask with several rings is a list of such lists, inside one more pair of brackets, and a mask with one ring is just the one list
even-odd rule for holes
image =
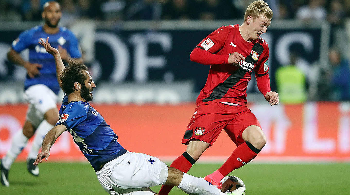
{"label": "red sock with black top directly above the ball", "polygon": [[[259,152],[259,149],[255,148],[251,143],[246,141],[245,143],[239,145],[235,150],[233,150],[231,156],[218,169],[218,171],[223,175],[223,177],[225,177],[233,170],[249,163],[253,158],[255,158],[255,156],[258,156]],[[217,181],[220,181],[222,178],[215,179]]]}

